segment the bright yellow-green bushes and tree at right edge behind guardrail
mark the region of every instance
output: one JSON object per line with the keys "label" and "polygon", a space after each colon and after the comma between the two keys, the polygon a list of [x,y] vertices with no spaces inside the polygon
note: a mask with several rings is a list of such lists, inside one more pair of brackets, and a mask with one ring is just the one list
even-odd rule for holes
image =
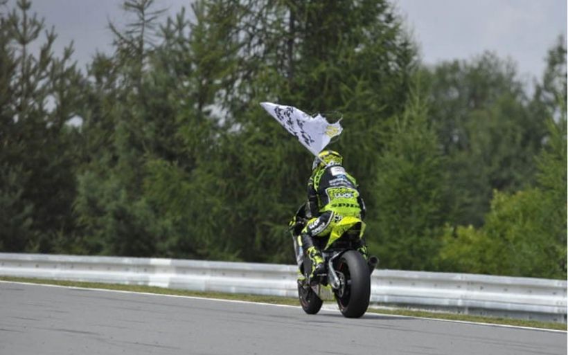
{"label": "bright yellow-green bushes and tree at right edge behind guardrail", "polygon": [[[564,60],[559,60],[558,55]],[[513,193],[496,191],[485,224],[449,228],[439,255],[443,268],[499,275],[565,279],[567,245],[567,107],[566,47],[560,41],[549,52],[542,87],[541,119],[547,126],[546,143],[536,156],[536,183]],[[553,75],[550,73],[558,73]],[[559,115],[559,116],[556,116]]]}

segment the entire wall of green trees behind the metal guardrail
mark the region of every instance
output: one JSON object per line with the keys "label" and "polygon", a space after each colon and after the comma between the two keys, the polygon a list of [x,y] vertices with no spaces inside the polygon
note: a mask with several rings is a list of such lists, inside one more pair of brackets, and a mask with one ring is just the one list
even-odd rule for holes
{"label": "entire wall of green trees behind the metal guardrail", "polygon": [[342,119],[383,267],[565,277],[564,39],[529,91],[492,53],[422,66],[387,0],[159,6],[82,73],[0,0],[0,251],[292,263],[312,157],[269,101]]}

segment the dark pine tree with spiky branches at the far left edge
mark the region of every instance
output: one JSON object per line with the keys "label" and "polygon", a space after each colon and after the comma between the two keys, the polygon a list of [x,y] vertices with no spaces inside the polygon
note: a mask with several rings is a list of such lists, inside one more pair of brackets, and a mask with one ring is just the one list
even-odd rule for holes
{"label": "dark pine tree with spiky branches at the far left edge", "polygon": [[75,132],[67,123],[80,106],[82,77],[70,63],[72,46],[53,54],[53,28],[32,51],[45,26],[30,12],[30,1],[19,0],[0,18],[0,239],[4,250],[48,252],[74,228]]}

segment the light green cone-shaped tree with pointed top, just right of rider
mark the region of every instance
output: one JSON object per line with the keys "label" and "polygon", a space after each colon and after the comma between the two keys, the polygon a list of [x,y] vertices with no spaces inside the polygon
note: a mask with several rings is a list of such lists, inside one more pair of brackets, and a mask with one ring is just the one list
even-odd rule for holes
{"label": "light green cone-shaped tree with pointed top, just right of rider", "polygon": [[447,174],[417,83],[378,159],[371,211],[376,223],[370,228],[375,234],[368,239],[389,268],[432,270],[447,212]]}

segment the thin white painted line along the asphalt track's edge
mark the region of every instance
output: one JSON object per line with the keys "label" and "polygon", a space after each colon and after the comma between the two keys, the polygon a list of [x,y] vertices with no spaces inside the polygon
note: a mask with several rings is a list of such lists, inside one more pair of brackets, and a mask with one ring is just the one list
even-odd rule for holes
{"label": "thin white painted line along the asphalt track's edge", "polygon": [[[189,295],[168,295],[166,293],[151,293],[151,292],[136,292],[136,291],[122,291],[122,290],[111,290],[111,289],[97,289],[94,287],[78,287],[78,286],[62,286],[57,284],[37,284],[34,282],[17,282],[17,281],[5,281],[0,280],[0,283],[4,284],[26,284],[26,285],[35,285],[35,286],[47,286],[47,287],[60,287],[63,289],[77,289],[77,290],[89,290],[89,291],[106,291],[106,292],[115,292],[115,293],[133,293],[136,295],[153,295],[153,296],[163,296],[163,297],[172,297],[172,298],[190,298],[193,300],[209,300],[209,301],[218,301],[218,302],[231,302],[231,303],[241,303],[241,304],[260,304],[263,306],[272,306],[272,307],[287,307],[287,308],[299,308],[300,306],[290,306],[289,304],[275,304],[275,303],[264,303],[264,302],[251,302],[251,301],[240,301],[240,300],[224,300],[222,298],[206,298],[206,297],[199,297],[199,296],[189,296]],[[328,311],[328,312],[336,312],[339,311],[336,305],[331,304],[323,304],[321,307],[321,311]],[[369,314],[369,313],[367,313]],[[558,330],[558,329],[545,329],[545,328],[534,328],[534,327],[521,327],[517,325],[501,325],[501,324],[494,324],[494,323],[483,323],[483,322],[468,322],[467,320],[451,320],[451,319],[440,319],[440,318],[426,318],[426,317],[415,317],[415,316],[399,316],[396,314],[383,314],[383,313],[370,313],[374,315],[378,315],[381,317],[391,317],[391,318],[414,318],[414,319],[421,319],[421,320],[435,320],[437,322],[454,322],[454,323],[464,323],[470,325],[485,325],[489,327],[501,327],[501,328],[513,328],[513,329],[526,329],[526,330],[537,330],[537,331],[551,331],[554,333],[567,333],[565,330]]]}

